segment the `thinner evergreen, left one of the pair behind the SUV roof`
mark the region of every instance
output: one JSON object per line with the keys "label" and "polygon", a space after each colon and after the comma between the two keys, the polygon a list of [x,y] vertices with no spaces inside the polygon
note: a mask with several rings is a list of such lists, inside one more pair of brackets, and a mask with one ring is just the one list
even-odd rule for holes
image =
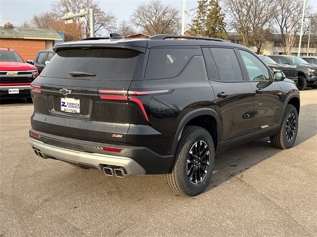
{"label": "thinner evergreen, left one of the pair behind the SUV roof", "polygon": [[196,10],[196,15],[189,24],[188,35],[191,36],[205,36],[206,27],[205,22],[207,20],[207,10],[208,10],[208,0],[198,0],[198,7]]}

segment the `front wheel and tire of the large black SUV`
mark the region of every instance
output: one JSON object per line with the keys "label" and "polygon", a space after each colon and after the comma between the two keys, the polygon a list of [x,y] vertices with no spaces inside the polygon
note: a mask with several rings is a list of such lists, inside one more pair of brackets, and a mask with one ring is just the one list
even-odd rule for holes
{"label": "front wheel and tire of the large black SUV", "polygon": [[275,136],[269,137],[272,146],[279,149],[291,148],[295,143],[297,131],[297,110],[294,105],[287,105],[278,133]]}

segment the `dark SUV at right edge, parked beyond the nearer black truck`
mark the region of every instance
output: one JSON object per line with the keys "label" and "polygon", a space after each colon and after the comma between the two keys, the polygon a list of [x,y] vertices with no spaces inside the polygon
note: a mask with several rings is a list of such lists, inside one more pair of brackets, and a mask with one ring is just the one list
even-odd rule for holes
{"label": "dark SUV at right edge, parked beyond the nearer black truck", "polygon": [[298,70],[298,83],[299,90],[304,90],[306,86],[313,89],[317,87],[317,65],[309,64],[304,59],[296,56],[289,55],[267,55],[279,64],[294,65]]}

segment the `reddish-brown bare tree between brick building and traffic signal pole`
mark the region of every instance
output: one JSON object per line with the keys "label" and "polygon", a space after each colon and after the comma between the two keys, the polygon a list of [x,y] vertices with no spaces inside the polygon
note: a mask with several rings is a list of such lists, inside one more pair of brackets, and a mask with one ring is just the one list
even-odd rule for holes
{"label": "reddish-brown bare tree between brick building and traffic signal pole", "polygon": [[31,21],[32,25],[37,28],[53,29],[65,33],[65,41],[81,39],[81,25],[77,22],[65,24],[55,13],[43,12],[35,15]]}

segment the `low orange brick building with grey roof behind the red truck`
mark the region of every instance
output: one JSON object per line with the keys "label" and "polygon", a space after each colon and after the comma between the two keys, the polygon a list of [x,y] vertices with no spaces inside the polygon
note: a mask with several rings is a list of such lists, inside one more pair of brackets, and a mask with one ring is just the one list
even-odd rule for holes
{"label": "low orange brick building with grey roof behind the red truck", "polygon": [[0,27],[0,48],[16,50],[24,60],[34,60],[39,50],[52,49],[54,40],[62,40],[50,29]]}

